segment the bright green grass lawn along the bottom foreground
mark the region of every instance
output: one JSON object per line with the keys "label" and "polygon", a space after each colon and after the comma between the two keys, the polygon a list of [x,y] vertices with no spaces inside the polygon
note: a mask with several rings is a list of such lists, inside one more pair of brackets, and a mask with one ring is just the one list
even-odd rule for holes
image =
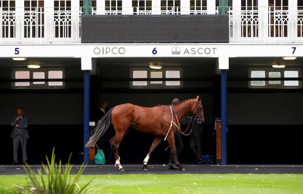
{"label": "bright green grass lawn along the bottom foreground", "polygon": [[[303,174],[182,174],[182,175],[82,175],[80,185],[93,179],[96,193],[303,193]],[[26,175],[0,175],[0,193],[16,193],[25,186]]]}

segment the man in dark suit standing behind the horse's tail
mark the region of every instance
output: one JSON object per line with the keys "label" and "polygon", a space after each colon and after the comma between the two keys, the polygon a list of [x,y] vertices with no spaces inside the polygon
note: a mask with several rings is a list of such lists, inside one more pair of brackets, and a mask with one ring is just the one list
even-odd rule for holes
{"label": "man in dark suit standing behind the horse's tail", "polygon": [[[107,102],[101,102],[100,108],[98,108],[94,115],[94,120],[96,122],[100,122],[101,118],[108,112],[108,104]],[[109,127],[109,129],[100,137],[98,141],[98,146],[100,149],[104,151],[105,162],[110,164],[112,162],[112,148],[109,141],[115,136],[115,129],[113,125]]]}

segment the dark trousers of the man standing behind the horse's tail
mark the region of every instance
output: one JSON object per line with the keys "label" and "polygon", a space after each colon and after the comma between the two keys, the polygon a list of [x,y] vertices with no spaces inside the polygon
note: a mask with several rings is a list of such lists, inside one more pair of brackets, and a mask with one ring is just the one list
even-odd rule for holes
{"label": "dark trousers of the man standing behind the horse's tail", "polygon": [[99,149],[102,149],[105,155],[105,162],[112,163],[113,161],[113,151],[110,144],[110,140],[115,136],[115,129],[113,125],[111,125],[104,135],[99,139],[98,146]]}

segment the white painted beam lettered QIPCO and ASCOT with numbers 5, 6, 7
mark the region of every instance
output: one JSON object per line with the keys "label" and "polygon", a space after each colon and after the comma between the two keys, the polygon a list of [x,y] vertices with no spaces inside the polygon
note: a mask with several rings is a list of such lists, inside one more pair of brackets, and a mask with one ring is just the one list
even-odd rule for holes
{"label": "white painted beam lettered QIPCO and ASCOT with numbers 5, 6, 7", "polygon": [[[19,53],[16,52],[16,48]],[[302,44],[18,44],[0,45],[0,50],[0,57],[28,58],[303,56]]]}

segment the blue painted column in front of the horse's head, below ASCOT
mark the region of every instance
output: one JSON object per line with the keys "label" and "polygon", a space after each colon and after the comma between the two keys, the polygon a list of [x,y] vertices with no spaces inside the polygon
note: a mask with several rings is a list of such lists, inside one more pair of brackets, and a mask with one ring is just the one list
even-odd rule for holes
{"label": "blue painted column in front of the horse's head, below ASCOT", "polygon": [[227,69],[221,70],[221,163],[227,164],[227,149],[226,149],[226,74]]}

